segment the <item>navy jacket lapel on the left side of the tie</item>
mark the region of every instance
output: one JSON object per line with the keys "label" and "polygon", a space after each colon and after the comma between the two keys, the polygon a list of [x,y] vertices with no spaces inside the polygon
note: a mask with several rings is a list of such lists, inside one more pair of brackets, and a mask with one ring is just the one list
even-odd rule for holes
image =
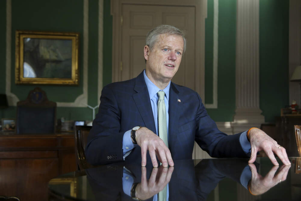
{"label": "navy jacket lapel on the left side of the tie", "polygon": [[133,94],[133,99],[137,105],[145,127],[156,133],[154,115],[151,108],[151,100],[144,81],[143,72],[136,78],[134,90],[137,93]]}

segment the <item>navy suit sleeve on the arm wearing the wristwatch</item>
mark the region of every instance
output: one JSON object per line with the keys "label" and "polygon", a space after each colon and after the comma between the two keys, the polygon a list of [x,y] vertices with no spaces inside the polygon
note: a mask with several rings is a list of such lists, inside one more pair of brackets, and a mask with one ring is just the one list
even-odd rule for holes
{"label": "navy suit sleeve on the arm wearing the wristwatch", "polygon": [[88,136],[85,155],[88,163],[104,165],[123,160],[123,134],[120,132],[120,109],[108,86],[101,92],[98,114]]}

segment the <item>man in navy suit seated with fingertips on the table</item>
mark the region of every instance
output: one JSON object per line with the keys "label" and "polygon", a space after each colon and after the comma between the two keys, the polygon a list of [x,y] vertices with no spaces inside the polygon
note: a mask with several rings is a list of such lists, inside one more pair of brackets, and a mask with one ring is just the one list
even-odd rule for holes
{"label": "man in navy suit seated with fingertips on the table", "polygon": [[235,135],[219,131],[200,96],[170,81],[185,48],[184,33],[175,27],[161,25],[147,34],[145,70],[102,90],[86,147],[88,162],[141,160],[142,166],[157,167],[158,159],[167,167],[173,160],[191,159],[196,141],[212,157],[250,157],[252,163],[264,150],[274,165],[279,164],[273,153],[290,165],[285,149],[260,129]]}

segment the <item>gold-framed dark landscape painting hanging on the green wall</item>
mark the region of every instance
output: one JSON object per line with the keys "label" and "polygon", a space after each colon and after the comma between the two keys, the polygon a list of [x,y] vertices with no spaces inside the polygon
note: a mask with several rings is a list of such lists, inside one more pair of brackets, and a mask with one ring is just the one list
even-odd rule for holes
{"label": "gold-framed dark landscape painting hanging on the green wall", "polygon": [[16,31],[15,83],[78,85],[78,33]]}

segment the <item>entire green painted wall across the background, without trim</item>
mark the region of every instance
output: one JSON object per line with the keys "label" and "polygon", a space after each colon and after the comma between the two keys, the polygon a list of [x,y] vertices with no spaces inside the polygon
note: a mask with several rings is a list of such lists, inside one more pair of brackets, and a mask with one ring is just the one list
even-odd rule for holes
{"label": "entire green painted wall across the background, without trim", "polygon": [[[59,6],[58,6],[59,5]],[[205,96],[213,103],[213,0],[208,0],[205,33]],[[26,9],[25,9],[26,8]],[[88,104],[98,102],[98,0],[89,0],[88,13]],[[266,122],[273,122],[280,108],[289,104],[288,97],[288,1],[260,0],[260,108]],[[41,17],[43,16],[43,17]],[[104,0],[103,16],[103,86],[112,81],[112,16],[110,0]],[[218,33],[218,108],[208,109],[215,121],[232,121],[235,111],[235,37],[236,0],[219,0]],[[6,1],[0,1],[0,93],[5,93]],[[79,86],[45,86],[48,98],[74,102],[83,86],[83,0],[72,4],[12,0],[11,90],[20,100],[36,85],[14,84],[15,30],[71,31],[80,33]],[[2,37],[1,37],[2,36]],[[2,53],[2,54],[1,54]],[[272,84],[271,84],[272,83]],[[15,107],[2,110],[0,118],[14,118]],[[57,118],[92,120],[89,108],[58,107]]]}

